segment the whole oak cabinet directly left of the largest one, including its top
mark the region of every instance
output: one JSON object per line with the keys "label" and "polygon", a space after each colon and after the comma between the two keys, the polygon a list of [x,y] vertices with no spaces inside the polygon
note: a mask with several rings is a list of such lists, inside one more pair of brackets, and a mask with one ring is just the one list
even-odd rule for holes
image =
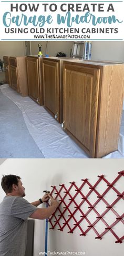
{"label": "whole oak cabinet directly left of the largest one, including its top", "polygon": [[43,58],[44,106],[55,119],[63,122],[63,62],[77,61],[64,57]]}

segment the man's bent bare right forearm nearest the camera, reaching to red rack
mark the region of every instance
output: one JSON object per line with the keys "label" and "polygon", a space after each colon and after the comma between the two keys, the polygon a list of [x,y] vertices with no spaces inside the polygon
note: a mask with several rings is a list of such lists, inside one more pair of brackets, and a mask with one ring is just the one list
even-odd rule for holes
{"label": "man's bent bare right forearm nearest the camera, reaching to red rack", "polygon": [[58,207],[59,203],[55,200],[51,200],[51,205],[48,208],[38,208],[33,214],[29,216],[32,219],[44,220],[47,219],[53,214]]}

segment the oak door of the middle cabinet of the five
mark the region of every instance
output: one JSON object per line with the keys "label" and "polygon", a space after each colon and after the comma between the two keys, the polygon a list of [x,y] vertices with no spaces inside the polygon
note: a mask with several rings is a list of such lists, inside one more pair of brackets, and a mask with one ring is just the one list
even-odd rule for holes
{"label": "oak door of the middle cabinet of the five", "polygon": [[29,97],[40,104],[38,59],[27,57],[27,79]]}

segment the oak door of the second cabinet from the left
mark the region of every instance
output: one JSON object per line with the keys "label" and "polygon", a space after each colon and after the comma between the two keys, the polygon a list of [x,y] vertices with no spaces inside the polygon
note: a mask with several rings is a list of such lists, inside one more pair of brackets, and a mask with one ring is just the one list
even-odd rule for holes
{"label": "oak door of the second cabinet from the left", "polygon": [[17,67],[11,66],[11,86],[19,92]]}

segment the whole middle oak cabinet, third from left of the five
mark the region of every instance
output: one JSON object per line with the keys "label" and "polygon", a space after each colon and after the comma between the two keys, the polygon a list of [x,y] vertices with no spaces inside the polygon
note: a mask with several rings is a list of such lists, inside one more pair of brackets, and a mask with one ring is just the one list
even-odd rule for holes
{"label": "whole middle oak cabinet, third from left of the five", "polygon": [[42,57],[27,57],[28,94],[39,105],[43,105]]}

